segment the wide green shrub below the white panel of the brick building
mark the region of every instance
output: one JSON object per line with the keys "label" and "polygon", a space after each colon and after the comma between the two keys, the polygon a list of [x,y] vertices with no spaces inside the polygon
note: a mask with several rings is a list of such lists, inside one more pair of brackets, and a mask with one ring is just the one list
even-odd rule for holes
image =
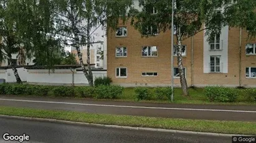
{"label": "wide green shrub below the white panel of the brick building", "polygon": [[210,102],[234,102],[239,92],[228,87],[205,87],[204,93]]}

